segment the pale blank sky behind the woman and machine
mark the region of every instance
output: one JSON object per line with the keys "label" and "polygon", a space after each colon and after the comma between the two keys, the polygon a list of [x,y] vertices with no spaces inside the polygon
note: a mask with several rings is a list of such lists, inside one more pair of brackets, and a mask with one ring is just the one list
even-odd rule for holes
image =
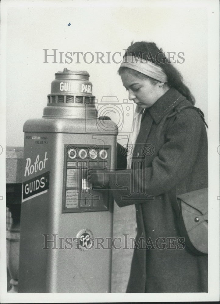
{"label": "pale blank sky behind the woman and machine", "polygon": [[[175,64],[183,74],[208,119],[208,24],[207,10],[193,7],[193,2],[180,7],[176,2],[82,1],[75,7],[60,2],[28,2],[23,7],[9,8],[7,14],[6,57],[6,146],[23,146],[23,124],[30,118],[41,118],[55,72],[64,67],[86,70],[93,84],[93,94],[128,98],[117,75],[119,64],[48,64],[44,50],[58,52],[121,52],[130,42],[155,42],[165,52],[184,52],[185,62]],[[169,2],[169,3],[171,3]],[[60,5],[63,3],[63,5]],[[135,4],[135,5],[134,5]],[[44,7],[43,7],[44,5]],[[67,26],[68,23],[71,26]],[[58,56],[59,58],[59,56]],[[73,57],[75,60],[76,55]],[[81,58],[81,57],[80,57]],[[89,58],[89,57],[87,57]],[[110,57],[111,58],[111,57]],[[115,56],[120,60],[120,56]],[[59,59],[57,60],[59,62]],[[111,116],[114,120],[114,115]],[[115,118],[117,119],[117,118]],[[130,116],[131,119],[131,116]],[[125,119],[124,130],[131,121]]]}

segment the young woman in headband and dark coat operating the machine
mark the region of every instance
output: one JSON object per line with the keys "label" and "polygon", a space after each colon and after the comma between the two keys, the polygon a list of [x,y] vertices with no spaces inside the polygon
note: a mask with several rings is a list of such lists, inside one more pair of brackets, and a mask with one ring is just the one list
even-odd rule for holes
{"label": "young woman in headband and dark coat operating the machine", "polygon": [[[127,292],[208,292],[208,257],[180,241],[172,208],[175,191],[208,187],[207,133],[194,109],[169,118],[194,105],[194,98],[164,58],[155,43],[136,42],[119,68],[137,108],[128,148],[120,149],[128,152],[126,170],[116,171],[117,185],[128,190],[111,193],[120,207],[135,204],[136,241],[144,239],[145,247],[134,250]],[[103,174],[93,172],[89,178],[93,185],[103,184]],[[115,189],[115,174],[109,174],[108,185]]]}

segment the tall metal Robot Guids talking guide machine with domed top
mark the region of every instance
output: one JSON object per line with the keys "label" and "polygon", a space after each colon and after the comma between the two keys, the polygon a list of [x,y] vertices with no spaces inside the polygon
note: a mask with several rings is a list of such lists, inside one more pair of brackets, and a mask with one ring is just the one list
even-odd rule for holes
{"label": "tall metal Robot Guids talking guide machine with domed top", "polygon": [[86,71],[64,69],[24,124],[18,292],[111,291],[113,199],[85,171],[114,168],[118,130],[94,98]]}

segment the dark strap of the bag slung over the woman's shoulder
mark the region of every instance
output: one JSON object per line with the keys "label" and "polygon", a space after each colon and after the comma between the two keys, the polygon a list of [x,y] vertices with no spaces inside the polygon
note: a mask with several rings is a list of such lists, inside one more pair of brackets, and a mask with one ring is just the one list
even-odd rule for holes
{"label": "dark strap of the bag slung over the woman's shoulder", "polygon": [[[175,109],[175,111],[174,111],[171,115],[167,116],[167,118],[171,118],[171,117],[175,118],[175,116],[176,116],[180,111],[182,111],[182,110],[184,110],[184,109],[190,109],[190,108],[196,110],[196,111],[199,113],[199,115],[200,115],[200,117],[202,118],[202,120],[203,120],[205,126],[206,126],[207,129],[208,129],[208,125],[207,125],[207,123],[205,122],[204,113],[203,113],[199,108],[194,107],[193,105],[186,105],[186,106],[181,107],[181,108],[179,108],[179,109]],[[173,120],[174,120],[174,119],[173,119]],[[172,123],[172,120],[170,121],[170,123]],[[179,206],[178,201],[177,201],[177,197],[176,197],[176,186],[173,188],[173,190],[172,190],[171,193],[170,193],[170,199],[171,199],[171,205],[172,205],[172,207],[173,207],[173,208],[176,210],[176,212],[179,214],[179,212],[181,211],[181,206]]]}

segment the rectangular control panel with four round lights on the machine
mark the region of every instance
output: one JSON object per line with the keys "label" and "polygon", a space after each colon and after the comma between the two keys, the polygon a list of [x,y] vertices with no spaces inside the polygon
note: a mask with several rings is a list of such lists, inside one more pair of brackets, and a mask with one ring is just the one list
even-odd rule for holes
{"label": "rectangular control panel with four round lights on the machine", "polygon": [[108,190],[96,190],[86,179],[88,169],[110,169],[111,146],[66,144],[62,213],[107,211]]}

